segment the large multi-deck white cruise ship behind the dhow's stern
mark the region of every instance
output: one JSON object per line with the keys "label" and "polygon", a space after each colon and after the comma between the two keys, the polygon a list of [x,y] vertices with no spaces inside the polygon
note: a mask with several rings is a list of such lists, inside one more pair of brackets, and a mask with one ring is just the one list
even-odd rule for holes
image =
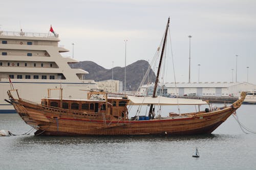
{"label": "large multi-deck white cruise ship behind the dhow's stern", "polygon": [[[87,71],[69,66],[78,61],[62,57],[60,53],[69,50],[58,45],[57,34],[50,34],[0,31],[0,113],[15,113],[5,102],[9,77],[22,98],[37,103],[47,96],[48,88],[61,85],[66,99],[84,99],[86,92],[80,89],[97,88],[94,80],[83,80]],[[52,90],[52,97],[59,95],[58,90]]]}

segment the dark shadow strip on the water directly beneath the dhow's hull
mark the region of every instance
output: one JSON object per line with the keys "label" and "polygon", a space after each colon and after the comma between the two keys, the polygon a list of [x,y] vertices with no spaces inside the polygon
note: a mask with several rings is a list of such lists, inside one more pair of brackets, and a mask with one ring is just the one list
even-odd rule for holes
{"label": "dark shadow strip on the water directly beneath the dhow's hull", "polygon": [[173,142],[199,140],[225,140],[236,135],[201,134],[201,135],[173,135],[173,136],[22,136],[20,143],[40,144],[79,144],[79,143],[127,143],[127,142]]}

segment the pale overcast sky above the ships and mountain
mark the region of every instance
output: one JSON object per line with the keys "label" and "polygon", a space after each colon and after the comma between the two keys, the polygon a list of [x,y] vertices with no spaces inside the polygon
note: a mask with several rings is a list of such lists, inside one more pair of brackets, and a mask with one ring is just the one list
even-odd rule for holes
{"label": "pale overcast sky above the ships and mountain", "polygon": [[[50,25],[60,44],[70,52],[63,56],[93,61],[105,67],[152,60],[161,41],[167,18],[177,82],[188,82],[191,38],[191,82],[256,84],[256,1],[236,0],[110,0],[110,1],[2,1],[0,30],[48,33]],[[168,82],[173,82],[170,77]]]}

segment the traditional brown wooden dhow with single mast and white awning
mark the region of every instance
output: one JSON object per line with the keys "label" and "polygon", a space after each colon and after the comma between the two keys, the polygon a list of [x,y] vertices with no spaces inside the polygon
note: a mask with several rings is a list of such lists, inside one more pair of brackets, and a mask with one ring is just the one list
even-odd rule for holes
{"label": "traditional brown wooden dhow with single mast and white awning", "polygon": [[[17,89],[8,90],[9,102],[26,124],[37,131],[35,135],[171,135],[211,133],[243,103],[241,99],[230,106],[184,114],[169,113],[154,116],[155,105],[205,105],[207,101],[165,98],[156,96],[161,60],[164,53],[169,19],[167,22],[161,58],[153,96],[114,96],[103,91],[88,92],[87,100],[41,99],[41,104],[19,97]],[[16,95],[17,94],[17,95]],[[50,92],[48,92],[50,94]],[[62,89],[60,88],[60,94]],[[15,97],[14,97],[15,95]],[[127,106],[149,105],[148,116],[129,118]]]}

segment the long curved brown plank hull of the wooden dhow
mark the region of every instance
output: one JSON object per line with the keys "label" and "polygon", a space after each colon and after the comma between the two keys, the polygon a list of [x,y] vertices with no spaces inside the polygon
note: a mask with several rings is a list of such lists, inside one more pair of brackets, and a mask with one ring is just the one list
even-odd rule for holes
{"label": "long curved brown plank hull of the wooden dhow", "polygon": [[[37,131],[35,135],[183,135],[211,133],[238,107],[151,120],[104,120],[82,114],[14,100],[13,106],[23,120]],[[94,116],[95,117],[95,116]]]}

